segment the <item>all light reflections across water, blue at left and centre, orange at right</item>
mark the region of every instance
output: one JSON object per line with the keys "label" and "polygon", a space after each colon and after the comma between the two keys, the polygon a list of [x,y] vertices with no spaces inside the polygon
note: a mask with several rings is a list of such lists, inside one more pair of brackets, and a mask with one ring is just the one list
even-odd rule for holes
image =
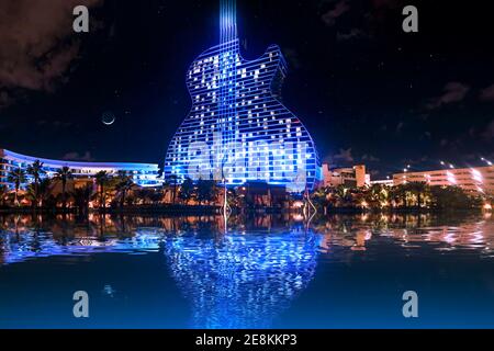
{"label": "all light reflections across water, blue at left and centre, orange at right", "polygon": [[[420,217],[412,216],[414,218]],[[403,218],[370,214],[369,225],[360,222],[360,215],[352,216],[351,222],[343,216],[334,216],[321,225],[321,230],[327,234],[323,245],[318,242],[319,236],[311,230],[305,233],[295,228],[256,233],[244,224],[238,225],[240,230],[233,230],[227,236],[212,235],[215,231],[209,226],[205,230],[199,230],[198,227],[191,229],[190,225],[183,224],[173,226],[173,230],[161,227],[122,230],[125,238],[106,236],[99,239],[88,236],[64,240],[59,231],[54,238],[50,231],[33,231],[19,226],[18,234],[12,228],[2,231],[0,259],[9,264],[47,256],[87,256],[98,252],[133,254],[159,250],[165,254],[180,291],[193,307],[193,327],[263,328],[272,326],[277,316],[311,282],[315,274],[317,250],[321,252],[318,246],[325,248],[323,252],[328,252],[330,247],[345,248],[330,250],[332,258],[336,258],[338,251],[350,250],[362,251],[353,252],[355,256],[372,257],[378,248],[377,244],[382,245],[380,240],[391,237],[395,239],[393,245],[402,245],[409,252],[417,250],[416,252],[422,253],[416,248],[424,246],[414,244],[427,242],[428,247],[438,251],[472,249],[478,252],[482,249],[482,254],[491,257],[494,223],[485,220],[489,218],[492,218],[492,212],[486,211],[480,222],[465,222],[452,227],[429,226],[428,222],[417,224],[409,220],[409,216]],[[24,222],[22,223],[27,226],[30,220]],[[374,226],[377,223],[379,227]],[[402,229],[404,225],[408,229]],[[265,224],[262,226],[268,227]],[[301,224],[295,226],[302,227]],[[369,240],[374,245],[368,245]],[[386,239],[385,245],[391,245],[390,242]],[[367,252],[363,251],[366,247]],[[101,288],[101,285],[98,286]],[[102,294],[119,296],[119,292],[115,293],[110,284],[103,287]]]}

